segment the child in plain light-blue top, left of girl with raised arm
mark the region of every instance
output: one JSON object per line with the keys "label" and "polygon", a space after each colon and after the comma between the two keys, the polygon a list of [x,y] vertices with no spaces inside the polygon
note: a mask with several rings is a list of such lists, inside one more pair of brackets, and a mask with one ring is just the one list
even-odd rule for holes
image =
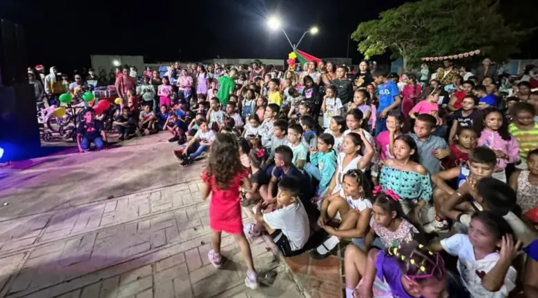
{"label": "child in plain light-blue top, left of girl with raised arm", "polygon": [[310,148],[310,162],[306,172],[319,181],[316,195],[323,197],[336,171],[336,153],[333,150],[334,137],[324,133],[318,137],[318,145]]}

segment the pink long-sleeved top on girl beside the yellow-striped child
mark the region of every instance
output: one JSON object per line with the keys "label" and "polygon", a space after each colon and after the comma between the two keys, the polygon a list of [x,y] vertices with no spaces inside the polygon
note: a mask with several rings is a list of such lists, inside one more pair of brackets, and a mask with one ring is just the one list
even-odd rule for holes
{"label": "pink long-sleeved top on girl beside the yellow-striped child", "polygon": [[497,166],[495,166],[495,172],[501,172],[506,168],[508,163],[515,163],[519,161],[519,143],[517,139],[510,135],[510,139],[505,141],[499,135],[499,132],[484,128],[478,139],[478,146],[486,146],[492,150],[502,150],[508,155],[508,160],[497,158]]}

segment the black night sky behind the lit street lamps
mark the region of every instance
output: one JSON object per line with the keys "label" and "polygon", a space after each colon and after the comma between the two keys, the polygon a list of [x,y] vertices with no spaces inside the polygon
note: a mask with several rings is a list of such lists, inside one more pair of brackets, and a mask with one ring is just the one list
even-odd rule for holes
{"label": "black night sky behind the lit street lamps", "polygon": [[[128,5],[122,8],[122,2]],[[310,26],[318,26],[320,32],[305,37],[300,50],[316,57],[345,57],[348,34],[358,23],[404,2],[1,0],[0,17],[26,29],[30,65],[76,68],[89,66],[90,54],[137,54],[148,62],[217,56],[285,59],[291,48],[284,34],[267,28],[266,19],[273,14],[280,16],[292,42]],[[354,63],[362,58],[356,45],[349,43]]]}

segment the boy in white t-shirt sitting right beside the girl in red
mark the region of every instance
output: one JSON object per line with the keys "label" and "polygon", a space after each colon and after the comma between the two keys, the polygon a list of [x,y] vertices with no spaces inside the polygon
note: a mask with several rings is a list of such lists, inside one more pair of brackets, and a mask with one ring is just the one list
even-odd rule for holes
{"label": "boy in white t-shirt sitting right beside the girl in red", "polygon": [[271,206],[260,202],[256,206],[256,214],[252,213],[256,222],[263,224],[269,232],[284,257],[304,252],[310,235],[308,215],[298,197],[298,183],[291,177],[283,177],[278,182],[276,202]]}

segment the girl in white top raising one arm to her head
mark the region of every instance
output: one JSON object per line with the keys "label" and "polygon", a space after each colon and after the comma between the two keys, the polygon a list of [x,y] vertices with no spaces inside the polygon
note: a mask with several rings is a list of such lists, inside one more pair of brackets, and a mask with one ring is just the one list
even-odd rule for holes
{"label": "girl in white top raising one arm to her head", "polygon": [[[364,156],[361,156],[359,152],[361,152],[360,150],[363,146],[365,146],[366,152]],[[336,172],[334,172],[331,183],[329,183],[325,197],[340,192],[344,174],[354,169],[365,170],[372,156],[374,156],[374,148],[366,140],[363,132],[360,134],[355,132],[347,134],[344,137],[343,152],[338,153]],[[342,194],[343,192],[340,192],[340,195]]]}

